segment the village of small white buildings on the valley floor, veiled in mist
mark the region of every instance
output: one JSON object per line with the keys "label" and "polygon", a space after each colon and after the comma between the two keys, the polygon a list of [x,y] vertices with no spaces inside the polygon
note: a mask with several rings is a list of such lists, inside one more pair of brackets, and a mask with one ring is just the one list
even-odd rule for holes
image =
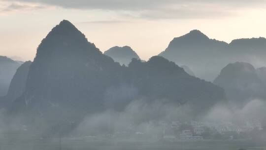
{"label": "village of small white buildings on the valley floor, veiled in mist", "polygon": [[[244,125],[238,126],[233,122],[200,122],[200,121],[148,121],[145,125],[133,131],[129,126],[127,131],[118,131],[112,134],[113,138],[121,136],[152,137],[158,139],[180,140],[233,140],[250,138],[250,133],[263,130],[259,121],[251,119]],[[133,133],[133,134],[132,134]]]}

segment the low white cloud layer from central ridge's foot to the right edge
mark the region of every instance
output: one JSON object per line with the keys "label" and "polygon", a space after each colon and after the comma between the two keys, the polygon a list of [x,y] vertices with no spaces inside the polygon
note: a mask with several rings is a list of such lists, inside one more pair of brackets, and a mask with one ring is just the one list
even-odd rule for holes
{"label": "low white cloud layer from central ridge's foot to the right edge", "polygon": [[[172,106],[156,101],[147,104],[143,100],[133,101],[128,107],[117,112],[108,110],[92,115],[88,115],[72,132],[78,135],[98,135],[100,133],[110,133],[121,131],[145,132],[150,121],[188,121],[193,118],[189,115],[191,112],[189,106]],[[216,122],[219,124],[233,122],[236,125],[244,126],[249,120],[257,120],[265,126],[266,103],[264,100],[251,100],[243,107],[233,107],[232,105],[217,104],[206,114],[202,114],[199,121]],[[196,119],[196,120],[197,120]]]}

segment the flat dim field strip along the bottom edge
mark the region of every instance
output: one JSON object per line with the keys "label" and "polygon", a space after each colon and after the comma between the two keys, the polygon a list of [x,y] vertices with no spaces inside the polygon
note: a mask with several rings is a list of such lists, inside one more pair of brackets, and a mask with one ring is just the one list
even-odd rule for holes
{"label": "flat dim field strip along the bottom edge", "polygon": [[41,139],[4,135],[0,150],[266,150],[266,144],[245,140],[155,140],[147,138],[59,138]]}

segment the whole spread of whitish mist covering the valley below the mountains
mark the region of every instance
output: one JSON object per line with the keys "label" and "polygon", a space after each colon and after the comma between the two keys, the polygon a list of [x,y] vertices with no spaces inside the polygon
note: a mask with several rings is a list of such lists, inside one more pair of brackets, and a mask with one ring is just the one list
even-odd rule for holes
{"label": "whole spread of whitish mist covering the valley below the mountains", "polygon": [[[52,126],[44,125],[43,120],[40,119],[39,123],[35,122],[34,128],[36,128],[36,125],[38,127],[37,130],[33,130],[29,128],[29,124],[22,124],[22,122],[26,123],[25,119],[27,118],[22,116],[10,118],[10,116],[7,117],[4,114],[4,111],[1,111],[1,148],[42,150],[39,147],[43,145],[44,148],[49,148],[49,150],[59,149],[60,147],[76,150],[85,150],[87,148],[106,150],[107,147],[111,150],[152,150],[178,147],[181,150],[191,149],[195,144],[206,149],[211,148],[204,140],[197,142],[176,139],[179,134],[182,134],[182,130],[193,127],[195,123],[203,126],[206,131],[215,125],[230,125],[244,129],[247,127],[247,124],[250,124],[249,127],[252,126],[254,129],[249,131],[250,135],[243,135],[244,137],[240,139],[244,138],[247,140],[251,138],[259,146],[263,145],[263,143],[258,144],[259,141],[266,140],[262,139],[265,137],[265,134],[264,132],[260,134],[255,134],[254,132],[262,131],[260,128],[265,126],[265,108],[266,103],[264,100],[255,99],[241,108],[229,104],[217,104],[208,112],[195,117],[190,115],[193,110],[188,105],[174,106],[164,103],[164,100],[147,103],[145,100],[139,99],[132,101],[122,111],[108,109],[104,112],[86,115],[80,123],[73,127],[71,132],[64,135],[61,135],[62,133],[54,133],[53,136],[48,137],[45,133]],[[215,134],[217,136],[218,132]],[[234,136],[236,134],[233,131],[231,133]],[[241,134],[241,131],[238,134]],[[202,135],[204,136],[204,133]],[[175,142],[173,143],[173,141]],[[29,144],[24,145],[22,144],[23,142]],[[221,148],[224,148],[226,143],[238,148],[242,148],[245,145],[242,142],[238,144],[232,142],[224,139],[219,142],[217,148],[220,149],[220,145],[223,146]],[[127,143],[127,145],[122,143]],[[183,146],[183,144],[186,146]],[[249,143],[249,145],[253,144]],[[153,146],[151,147],[151,145]],[[167,148],[165,145],[169,145],[169,147]]]}

